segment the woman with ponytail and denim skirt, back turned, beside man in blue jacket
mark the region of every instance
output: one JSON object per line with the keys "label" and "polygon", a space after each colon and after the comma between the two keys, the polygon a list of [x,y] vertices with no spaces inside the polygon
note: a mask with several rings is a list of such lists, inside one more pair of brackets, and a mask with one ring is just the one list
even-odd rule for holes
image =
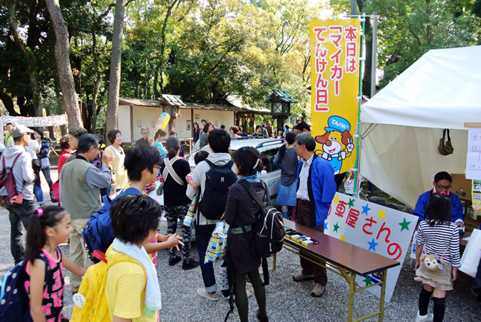
{"label": "woman with ponytail and denim skirt, back turned, beside man in blue jacket", "polygon": [[282,217],[289,217],[289,207],[296,206],[296,182],[297,182],[297,153],[294,142],[294,131],[286,134],[284,145],[281,146],[274,164],[281,166],[281,182],[277,191],[276,204],[282,207]]}

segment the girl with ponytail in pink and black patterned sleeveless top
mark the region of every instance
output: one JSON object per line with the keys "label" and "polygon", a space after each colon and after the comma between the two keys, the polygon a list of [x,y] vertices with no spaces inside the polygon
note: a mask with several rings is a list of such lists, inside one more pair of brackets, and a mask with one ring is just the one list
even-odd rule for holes
{"label": "girl with ponytail in pink and black patterned sleeveless top", "polygon": [[[87,271],[65,256],[58,244],[68,242],[72,232],[70,214],[59,206],[38,208],[33,212],[26,234],[25,283],[30,297],[33,321],[68,321],[63,316],[63,266],[78,276]],[[48,265],[48,269],[47,266]]]}

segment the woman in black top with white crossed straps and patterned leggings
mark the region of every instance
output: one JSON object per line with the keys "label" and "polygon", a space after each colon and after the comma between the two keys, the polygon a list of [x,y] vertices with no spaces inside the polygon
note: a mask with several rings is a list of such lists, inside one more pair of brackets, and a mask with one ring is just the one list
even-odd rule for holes
{"label": "woman in black top with white crossed straps and patterned leggings", "polygon": [[[187,181],[185,177],[190,173],[189,162],[179,157],[180,141],[171,136],[165,142],[167,157],[160,167],[164,178],[164,209],[167,219],[167,235],[177,231],[177,219],[184,222],[185,215],[190,206],[190,199],[185,195]],[[182,269],[194,269],[199,262],[190,258],[190,235],[191,229],[182,224]],[[175,254],[175,249],[169,251],[169,266],[174,266],[180,261],[180,256]]]}

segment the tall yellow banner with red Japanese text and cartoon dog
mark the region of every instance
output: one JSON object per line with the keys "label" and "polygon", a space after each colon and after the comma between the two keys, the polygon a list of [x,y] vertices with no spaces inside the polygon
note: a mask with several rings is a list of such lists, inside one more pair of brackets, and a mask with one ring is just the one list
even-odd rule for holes
{"label": "tall yellow banner with red Japanese text and cartoon dog", "polygon": [[359,56],[358,19],[312,19],[311,121],[316,154],[331,162],[334,173],[351,170],[356,162]]}

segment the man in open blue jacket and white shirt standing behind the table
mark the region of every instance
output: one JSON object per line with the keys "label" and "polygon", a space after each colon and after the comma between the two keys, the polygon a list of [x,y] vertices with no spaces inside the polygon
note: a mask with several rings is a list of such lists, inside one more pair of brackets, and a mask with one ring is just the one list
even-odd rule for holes
{"label": "man in open blue jacket and white shirt standing behind the table", "polygon": [[[297,206],[296,220],[298,224],[324,232],[324,221],[327,218],[331,201],[336,194],[334,170],[329,161],[314,153],[316,141],[309,133],[296,136],[296,152],[301,161],[297,166]],[[301,274],[294,275],[294,281],[314,279],[311,296],[324,295],[327,284],[326,268],[304,259],[302,256]]]}

